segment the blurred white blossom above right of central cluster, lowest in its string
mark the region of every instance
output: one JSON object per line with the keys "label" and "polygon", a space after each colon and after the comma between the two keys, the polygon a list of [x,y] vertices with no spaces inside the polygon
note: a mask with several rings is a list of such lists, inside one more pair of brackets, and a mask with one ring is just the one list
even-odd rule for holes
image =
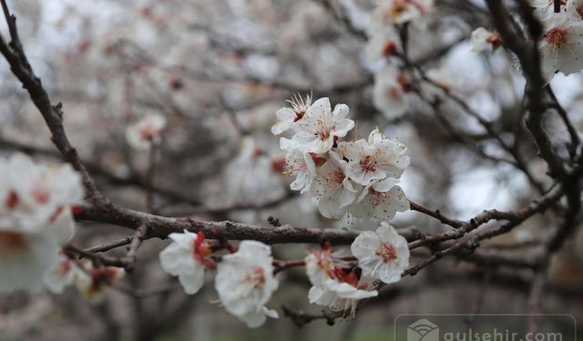
{"label": "blurred white blossom above right of central cluster, lowest in its string", "polygon": [[404,115],[409,108],[411,82],[394,65],[384,67],[374,75],[373,104],[387,118]]}

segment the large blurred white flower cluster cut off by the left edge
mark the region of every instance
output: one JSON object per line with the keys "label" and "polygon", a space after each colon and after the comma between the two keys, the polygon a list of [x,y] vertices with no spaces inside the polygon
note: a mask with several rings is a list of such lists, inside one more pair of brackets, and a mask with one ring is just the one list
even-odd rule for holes
{"label": "large blurred white flower cluster cut off by the left edge", "polygon": [[72,206],[83,196],[70,165],[36,164],[21,154],[0,159],[0,292],[42,289],[74,233]]}

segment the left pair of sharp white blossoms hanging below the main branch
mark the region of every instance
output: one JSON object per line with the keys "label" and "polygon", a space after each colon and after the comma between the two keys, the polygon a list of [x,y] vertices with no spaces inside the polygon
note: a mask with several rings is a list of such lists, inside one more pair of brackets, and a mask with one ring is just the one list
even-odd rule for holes
{"label": "left pair of sharp white blossoms hanging below the main branch", "polygon": [[277,318],[276,311],[265,307],[279,286],[273,276],[271,248],[246,240],[237,252],[221,257],[217,264],[210,256],[230,246],[211,244],[202,233],[184,231],[171,234],[172,244],[160,253],[164,271],[178,276],[184,291],[193,295],[204,284],[205,269],[216,269],[215,289],[225,309],[252,328],[263,325],[266,316]]}

